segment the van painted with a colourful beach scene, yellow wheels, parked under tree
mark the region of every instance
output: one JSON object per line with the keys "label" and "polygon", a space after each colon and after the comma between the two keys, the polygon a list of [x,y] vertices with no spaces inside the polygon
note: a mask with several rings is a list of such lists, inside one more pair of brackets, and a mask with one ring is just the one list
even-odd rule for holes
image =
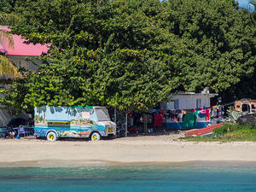
{"label": "van painted with a colourful beach scene, yellow wheels, parked under tree", "polygon": [[111,122],[108,109],[99,106],[35,108],[34,135],[55,141],[59,137],[115,137],[116,125]]}

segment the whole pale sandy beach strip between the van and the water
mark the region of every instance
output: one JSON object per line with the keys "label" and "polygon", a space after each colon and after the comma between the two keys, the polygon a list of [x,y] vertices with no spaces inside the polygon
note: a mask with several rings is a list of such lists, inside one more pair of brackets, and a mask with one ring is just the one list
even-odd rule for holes
{"label": "whole pale sandy beach strip between the van and the water", "polygon": [[[256,164],[256,143],[191,143],[181,134],[90,142],[0,139],[0,166],[86,166],[232,161]],[[254,163],[253,163],[254,164]]]}

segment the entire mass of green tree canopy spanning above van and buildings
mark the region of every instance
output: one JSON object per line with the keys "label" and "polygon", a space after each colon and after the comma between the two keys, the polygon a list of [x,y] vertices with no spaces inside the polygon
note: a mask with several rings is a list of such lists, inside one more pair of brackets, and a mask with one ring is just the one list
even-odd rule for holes
{"label": "entire mass of green tree canopy spanning above van and buildings", "polygon": [[233,0],[3,0],[0,10],[20,16],[12,32],[28,43],[51,44],[37,71],[3,90],[0,102],[15,113],[42,105],[144,110],[171,91],[225,94],[246,86],[241,80],[255,84],[253,13]]}

